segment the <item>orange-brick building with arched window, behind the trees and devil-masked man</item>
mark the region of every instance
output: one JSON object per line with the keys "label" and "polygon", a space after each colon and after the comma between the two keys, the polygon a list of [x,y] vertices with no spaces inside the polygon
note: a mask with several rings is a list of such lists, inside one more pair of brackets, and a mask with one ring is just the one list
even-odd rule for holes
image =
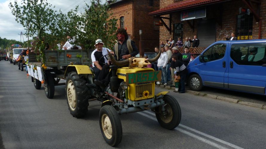
{"label": "orange-brick building with arched window, behind the trees and devil-masked man", "polygon": [[111,18],[118,19],[119,27],[127,28],[136,46],[139,48],[139,30],[142,30],[145,52],[154,52],[154,47],[159,45],[159,27],[148,14],[159,9],[159,0],[120,0],[110,4],[110,8]]}

